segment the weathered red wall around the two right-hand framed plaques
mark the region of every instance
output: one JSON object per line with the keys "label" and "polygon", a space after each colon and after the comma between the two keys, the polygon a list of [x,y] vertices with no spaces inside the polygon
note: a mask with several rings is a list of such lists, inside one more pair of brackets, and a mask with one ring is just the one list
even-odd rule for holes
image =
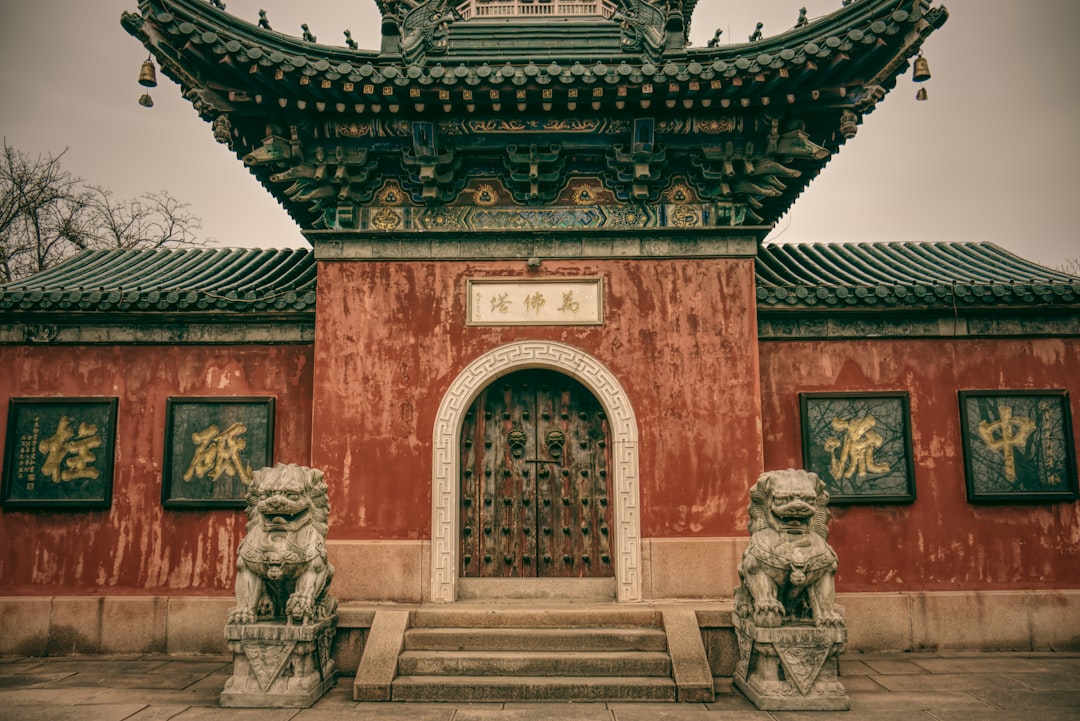
{"label": "weathered red wall around the two right-hand framed plaques", "polygon": [[967,501],[957,391],[997,389],[1066,389],[1080,419],[1080,339],[761,343],[766,467],[801,465],[800,392],[910,394],[918,499],[834,511],[840,590],[1080,586],[1080,503]]}

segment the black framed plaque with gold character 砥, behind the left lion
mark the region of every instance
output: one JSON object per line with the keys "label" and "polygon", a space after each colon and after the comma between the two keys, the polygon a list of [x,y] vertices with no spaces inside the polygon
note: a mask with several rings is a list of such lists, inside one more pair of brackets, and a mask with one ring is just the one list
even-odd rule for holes
{"label": "black framed plaque with gold character \u7825, behind the left lion", "polygon": [[242,508],[252,475],[273,463],[274,399],[170,397],[161,503]]}

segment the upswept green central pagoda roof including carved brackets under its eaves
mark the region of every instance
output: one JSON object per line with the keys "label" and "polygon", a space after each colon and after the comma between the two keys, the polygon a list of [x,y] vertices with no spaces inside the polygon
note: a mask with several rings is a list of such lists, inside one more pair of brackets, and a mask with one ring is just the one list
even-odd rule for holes
{"label": "upswept green central pagoda roof including carved brackets under its eaves", "polygon": [[[525,214],[558,231],[585,192],[649,206],[664,232],[762,237],[948,16],[928,0],[858,0],[774,37],[692,47],[692,5],[576,4],[589,3],[603,12],[463,21],[463,3],[399,0],[377,50],[205,0],[138,0],[122,23],[305,231],[415,229],[394,204],[450,208],[438,228],[455,233],[480,229],[459,214],[469,205],[494,206],[483,229]],[[665,202],[687,205],[681,226]]]}

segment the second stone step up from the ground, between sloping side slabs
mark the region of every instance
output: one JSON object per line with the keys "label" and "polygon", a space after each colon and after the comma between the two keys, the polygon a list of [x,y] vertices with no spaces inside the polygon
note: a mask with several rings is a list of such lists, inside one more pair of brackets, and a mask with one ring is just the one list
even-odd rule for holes
{"label": "second stone step up from the ground, between sloping side slabs", "polygon": [[671,657],[660,652],[405,651],[402,676],[646,677],[670,679]]}

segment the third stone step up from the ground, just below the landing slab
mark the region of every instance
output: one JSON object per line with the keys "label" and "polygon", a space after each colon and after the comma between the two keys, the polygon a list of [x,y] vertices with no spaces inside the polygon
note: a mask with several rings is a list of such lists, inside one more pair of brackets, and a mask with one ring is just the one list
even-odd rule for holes
{"label": "third stone step up from the ground, just below the landing slab", "polygon": [[406,651],[665,651],[659,628],[410,628]]}

